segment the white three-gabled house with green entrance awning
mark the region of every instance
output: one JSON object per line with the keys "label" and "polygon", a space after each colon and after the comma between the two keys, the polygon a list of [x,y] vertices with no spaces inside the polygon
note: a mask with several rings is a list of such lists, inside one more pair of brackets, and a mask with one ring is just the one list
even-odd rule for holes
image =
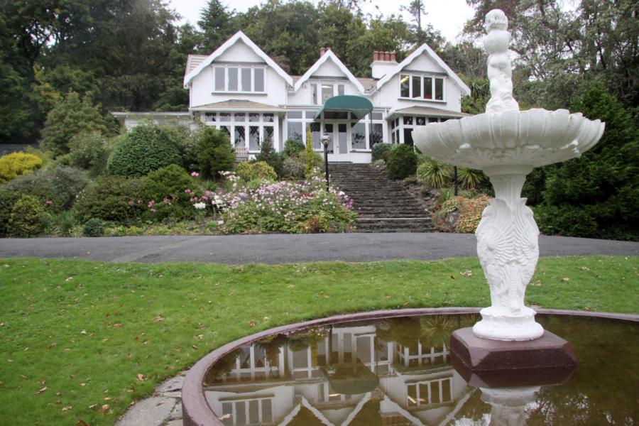
{"label": "white three-gabled house with green entrance awning", "polygon": [[[229,134],[237,151],[260,150],[271,138],[313,146],[331,137],[329,161],[369,163],[378,142],[413,144],[415,126],[459,119],[469,87],[426,44],[402,62],[393,52],[373,52],[372,78],[355,77],[330,48],[304,75],[288,75],[239,31],[210,55],[189,55],[184,87],[189,111],[114,113],[127,128],[140,119],[195,126],[201,121]],[[346,95],[346,96],[344,96]],[[330,100],[329,100],[330,99]]]}

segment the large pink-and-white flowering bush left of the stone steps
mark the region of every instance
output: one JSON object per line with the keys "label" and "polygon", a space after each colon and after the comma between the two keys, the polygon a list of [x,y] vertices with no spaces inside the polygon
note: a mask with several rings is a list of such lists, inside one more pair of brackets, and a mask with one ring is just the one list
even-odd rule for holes
{"label": "large pink-and-white flowering bush left of the stone steps", "polygon": [[226,232],[343,231],[354,222],[352,200],[344,192],[327,191],[317,176],[299,183],[263,181],[254,189],[237,185],[233,173],[225,177],[230,190],[212,204],[224,213]]}

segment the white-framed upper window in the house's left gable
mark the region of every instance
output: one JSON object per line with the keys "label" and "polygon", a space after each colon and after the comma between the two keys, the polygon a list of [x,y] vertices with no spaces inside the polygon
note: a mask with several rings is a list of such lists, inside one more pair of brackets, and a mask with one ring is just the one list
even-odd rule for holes
{"label": "white-framed upper window in the house's left gable", "polygon": [[251,65],[215,65],[215,92],[264,93],[264,68]]}

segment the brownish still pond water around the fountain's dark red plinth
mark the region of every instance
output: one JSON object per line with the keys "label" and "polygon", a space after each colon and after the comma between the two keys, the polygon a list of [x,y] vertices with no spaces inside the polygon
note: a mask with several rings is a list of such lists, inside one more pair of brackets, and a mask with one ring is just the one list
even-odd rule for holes
{"label": "brownish still pond water around the fountain's dark red plinth", "polygon": [[273,335],[214,364],[204,395],[224,425],[639,424],[638,323],[537,315],[571,342],[572,375],[476,388],[452,367],[448,342],[477,320],[395,317]]}

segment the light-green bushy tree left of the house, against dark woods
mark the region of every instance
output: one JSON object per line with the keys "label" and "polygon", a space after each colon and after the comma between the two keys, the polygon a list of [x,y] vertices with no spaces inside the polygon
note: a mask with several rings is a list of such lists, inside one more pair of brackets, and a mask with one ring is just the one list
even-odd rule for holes
{"label": "light-green bushy tree left of the house, against dark woods", "polygon": [[76,92],[69,92],[47,114],[42,130],[42,143],[55,155],[62,155],[69,152],[69,143],[74,136],[92,131],[109,133],[107,121],[99,106],[94,106],[89,97],[80,101]]}

